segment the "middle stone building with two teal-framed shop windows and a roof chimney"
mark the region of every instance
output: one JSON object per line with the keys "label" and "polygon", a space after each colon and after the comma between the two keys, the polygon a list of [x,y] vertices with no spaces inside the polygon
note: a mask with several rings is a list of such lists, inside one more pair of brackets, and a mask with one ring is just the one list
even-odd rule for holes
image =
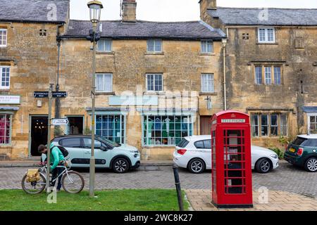
{"label": "middle stone building with two teal-framed shop windows and a roof chimney", "polygon": [[[183,136],[209,134],[209,117],[223,109],[225,34],[202,21],[136,20],[136,4],[123,1],[122,20],[99,25],[96,134],[136,146],[143,160],[168,160]],[[92,113],[89,29],[70,20],[61,36],[61,115],[80,131]]]}

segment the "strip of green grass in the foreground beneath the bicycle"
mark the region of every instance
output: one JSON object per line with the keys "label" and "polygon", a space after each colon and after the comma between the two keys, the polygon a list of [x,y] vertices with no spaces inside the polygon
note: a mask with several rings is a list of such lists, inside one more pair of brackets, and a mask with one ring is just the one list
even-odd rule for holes
{"label": "strip of green grass in the foreground beneath the bicycle", "polygon": [[[56,204],[47,202],[53,196],[41,193],[27,195],[22,190],[0,190],[0,211],[178,211],[175,190],[109,190],[96,191],[98,198],[89,198],[88,191],[72,195],[57,193]],[[185,210],[189,204],[184,199]]]}

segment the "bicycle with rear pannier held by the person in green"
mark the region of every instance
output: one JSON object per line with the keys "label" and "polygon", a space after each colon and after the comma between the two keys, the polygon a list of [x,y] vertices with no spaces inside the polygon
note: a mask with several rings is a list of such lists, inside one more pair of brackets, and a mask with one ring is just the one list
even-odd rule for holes
{"label": "bicycle with rear pannier held by the person in green", "polygon": [[[60,176],[62,176],[61,184],[66,192],[72,194],[80,193],[85,186],[85,180],[82,175],[73,170],[68,170],[67,161],[63,161],[63,165],[58,165],[57,167],[63,168],[63,172],[51,181],[50,184],[54,183]],[[25,174],[21,182],[23,191],[31,195],[42,193],[46,188],[46,173],[46,165],[43,165],[39,168],[39,181],[34,182],[27,182],[27,174]]]}

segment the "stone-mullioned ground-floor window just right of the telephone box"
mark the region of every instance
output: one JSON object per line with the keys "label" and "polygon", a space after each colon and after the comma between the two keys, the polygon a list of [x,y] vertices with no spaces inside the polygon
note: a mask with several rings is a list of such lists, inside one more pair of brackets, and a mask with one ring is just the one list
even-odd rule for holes
{"label": "stone-mullioned ground-floor window just right of the telephone box", "polygon": [[287,115],[251,114],[251,135],[253,137],[287,136]]}

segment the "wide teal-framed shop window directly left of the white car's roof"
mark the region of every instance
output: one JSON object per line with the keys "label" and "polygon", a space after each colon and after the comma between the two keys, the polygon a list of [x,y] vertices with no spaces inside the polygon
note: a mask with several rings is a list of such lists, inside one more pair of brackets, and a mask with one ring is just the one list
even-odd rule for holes
{"label": "wide teal-framed shop window directly left of the white car's roof", "polygon": [[185,136],[192,136],[190,116],[144,116],[144,146],[175,146]]}

